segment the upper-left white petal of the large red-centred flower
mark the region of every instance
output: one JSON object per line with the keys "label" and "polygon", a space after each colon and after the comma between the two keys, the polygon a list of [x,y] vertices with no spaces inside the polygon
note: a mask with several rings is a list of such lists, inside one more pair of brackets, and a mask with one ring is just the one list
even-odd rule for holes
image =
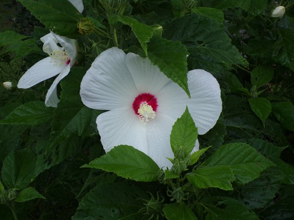
{"label": "upper-left white petal of the large red-centred flower", "polygon": [[81,82],[80,96],[92,109],[129,109],[139,95],[125,65],[123,50],[112,47],[92,63]]}

